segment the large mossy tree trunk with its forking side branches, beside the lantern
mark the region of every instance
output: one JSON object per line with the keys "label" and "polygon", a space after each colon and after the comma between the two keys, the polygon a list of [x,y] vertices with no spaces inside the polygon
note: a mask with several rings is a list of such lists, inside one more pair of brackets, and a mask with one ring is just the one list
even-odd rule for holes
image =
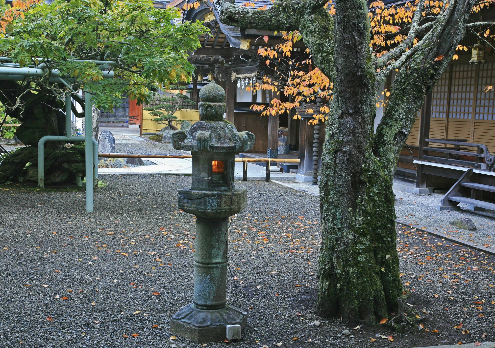
{"label": "large mossy tree trunk with its forking side branches, beside the lantern", "polygon": [[[423,45],[402,52],[408,52],[407,63],[397,66],[376,134],[376,95],[386,75],[371,54],[365,0],[335,0],[334,18],[323,8],[326,0],[276,0],[266,11],[232,2],[221,1],[224,24],[299,30],[315,64],[334,83],[321,158],[318,311],[342,316],[346,324],[387,318],[403,295],[392,190],[397,157],[426,93],[464,35],[474,0],[450,1]],[[435,61],[438,56],[445,60]]]}

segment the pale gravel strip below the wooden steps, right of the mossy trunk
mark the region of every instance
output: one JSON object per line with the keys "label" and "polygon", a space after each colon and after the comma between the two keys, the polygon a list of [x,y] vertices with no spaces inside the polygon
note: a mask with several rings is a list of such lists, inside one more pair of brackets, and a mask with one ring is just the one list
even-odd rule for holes
{"label": "pale gravel strip below the wooden steps, right of the mossy trunk", "polygon": [[[443,194],[416,195],[394,192],[396,193],[397,220],[495,249],[495,214],[493,212],[472,212],[467,210],[465,204],[459,205],[461,210],[439,211],[437,207],[440,205]],[[450,221],[461,217],[473,220],[476,231],[462,230],[449,225]]]}

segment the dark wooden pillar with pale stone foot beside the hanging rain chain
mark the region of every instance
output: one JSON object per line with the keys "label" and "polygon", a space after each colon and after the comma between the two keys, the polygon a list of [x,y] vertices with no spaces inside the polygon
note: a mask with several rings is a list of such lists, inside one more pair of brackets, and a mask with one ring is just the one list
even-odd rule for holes
{"label": "dark wooden pillar with pale stone foot beside the hanging rain chain", "polygon": [[299,168],[296,180],[313,180],[313,133],[314,128],[308,121],[312,118],[303,117],[299,126]]}

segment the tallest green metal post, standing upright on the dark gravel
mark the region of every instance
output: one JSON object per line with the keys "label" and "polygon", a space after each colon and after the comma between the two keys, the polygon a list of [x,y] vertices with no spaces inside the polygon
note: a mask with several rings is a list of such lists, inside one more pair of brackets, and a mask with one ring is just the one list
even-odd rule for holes
{"label": "tallest green metal post, standing upright on the dark gravel", "polygon": [[93,107],[91,94],[84,92],[84,126],[85,126],[85,149],[86,149],[86,212],[93,213]]}

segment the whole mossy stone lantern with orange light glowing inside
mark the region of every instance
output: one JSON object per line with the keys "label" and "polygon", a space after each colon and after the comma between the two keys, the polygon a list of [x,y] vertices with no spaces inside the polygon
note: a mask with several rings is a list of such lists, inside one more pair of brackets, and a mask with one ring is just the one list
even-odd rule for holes
{"label": "whole mossy stone lantern with orange light glowing inside", "polygon": [[227,230],[228,218],[247,204],[247,190],[234,187],[235,154],[252,148],[254,134],[238,132],[223,119],[225,91],[214,81],[201,88],[199,98],[201,121],[171,136],[174,148],[193,156],[191,187],[179,190],[178,202],[197,220],[193,303],[172,316],[170,329],[204,343],[240,338],[247,324],[247,313],[227,305]]}

